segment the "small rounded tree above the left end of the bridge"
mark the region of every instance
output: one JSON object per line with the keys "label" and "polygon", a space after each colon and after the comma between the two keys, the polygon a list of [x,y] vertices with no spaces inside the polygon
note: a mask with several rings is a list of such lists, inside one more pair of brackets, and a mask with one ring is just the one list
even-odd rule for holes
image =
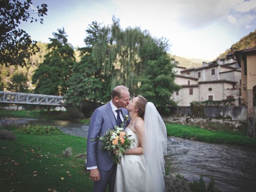
{"label": "small rounded tree above the left end of the bridge", "polygon": [[11,81],[7,84],[7,90],[12,92],[28,92],[28,78],[25,74],[16,73],[11,77],[10,80]]}

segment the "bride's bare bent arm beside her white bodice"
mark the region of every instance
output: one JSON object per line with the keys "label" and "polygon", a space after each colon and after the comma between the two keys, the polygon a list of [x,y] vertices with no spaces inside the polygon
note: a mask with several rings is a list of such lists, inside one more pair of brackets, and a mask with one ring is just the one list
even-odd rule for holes
{"label": "bride's bare bent arm beside her white bodice", "polygon": [[139,140],[139,147],[135,148],[135,149],[128,149],[128,150],[126,150],[126,152],[124,154],[142,155],[143,154],[142,138],[143,138],[143,134],[144,134],[144,121],[142,119],[135,123],[134,131]]}

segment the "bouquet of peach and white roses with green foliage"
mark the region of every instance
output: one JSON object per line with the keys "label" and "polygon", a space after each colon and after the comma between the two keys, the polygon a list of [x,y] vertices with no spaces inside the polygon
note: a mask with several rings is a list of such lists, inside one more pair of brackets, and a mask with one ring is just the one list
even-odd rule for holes
{"label": "bouquet of peach and white roses with green foliage", "polygon": [[[115,129],[106,131],[102,136],[98,137],[96,140],[100,140],[103,142],[102,148],[109,151],[110,153],[114,150],[118,151],[114,155],[113,161],[115,164],[119,163],[119,158],[122,156],[122,152],[125,152],[126,149],[130,147],[130,144],[134,142],[134,140],[130,140],[126,132],[124,132],[124,124],[128,120],[128,115],[124,115],[124,121],[120,126],[115,126]],[[92,140],[95,140],[92,138]]]}

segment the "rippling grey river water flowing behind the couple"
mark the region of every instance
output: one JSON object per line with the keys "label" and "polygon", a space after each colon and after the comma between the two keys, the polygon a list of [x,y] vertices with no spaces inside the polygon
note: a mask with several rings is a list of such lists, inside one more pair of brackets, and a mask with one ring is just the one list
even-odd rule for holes
{"label": "rippling grey river water flowing behind the couple", "polygon": [[[17,124],[45,124],[66,134],[86,137],[88,126],[62,120],[12,118]],[[206,185],[213,178],[222,192],[256,192],[256,148],[208,144],[182,138],[168,138],[166,164],[171,174],[181,174],[187,181],[204,177]]]}

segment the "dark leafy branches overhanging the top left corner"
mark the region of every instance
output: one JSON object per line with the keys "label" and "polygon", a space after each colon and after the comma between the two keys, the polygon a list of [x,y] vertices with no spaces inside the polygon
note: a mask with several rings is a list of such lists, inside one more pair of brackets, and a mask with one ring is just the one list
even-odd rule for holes
{"label": "dark leafy branches overhanging the top left corner", "polygon": [[[22,29],[20,22],[43,23],[47,5],[41,4],[36,10],[29,10],[32,0],[0,0],[0,64],[26,66],[32,54],[39,51],[36,41]],[[34,17],[34,14],[37,16]]]}

